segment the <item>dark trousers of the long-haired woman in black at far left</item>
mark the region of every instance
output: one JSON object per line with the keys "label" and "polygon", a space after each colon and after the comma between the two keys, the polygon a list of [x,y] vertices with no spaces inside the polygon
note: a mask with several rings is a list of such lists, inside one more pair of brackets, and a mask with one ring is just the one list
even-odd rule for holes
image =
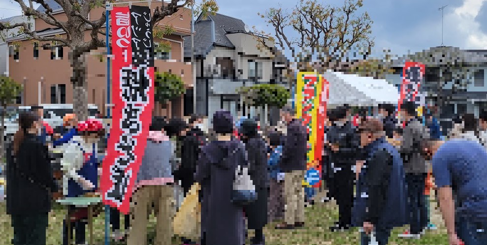
{"label": "dark trousers of the long-haired woman in black at far left", "polygon": [[48,214],[12,215],[13,245],[45,245]]}

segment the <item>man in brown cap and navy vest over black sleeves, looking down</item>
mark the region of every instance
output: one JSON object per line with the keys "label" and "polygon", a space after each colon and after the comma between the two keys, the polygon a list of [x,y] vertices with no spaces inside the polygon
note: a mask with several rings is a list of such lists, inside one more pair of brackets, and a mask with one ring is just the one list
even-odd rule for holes
{"label": "man in brown cap and navy vest over black sleeves, looking down", "polygon": [[379,245],[387,245],[392,228],[407,222],[402,159],[387,142],[380,120],[368,119],[358,130],[366,160],[357,179],[353,224],[362,227],[362,245],[369,245],[371,236]]}

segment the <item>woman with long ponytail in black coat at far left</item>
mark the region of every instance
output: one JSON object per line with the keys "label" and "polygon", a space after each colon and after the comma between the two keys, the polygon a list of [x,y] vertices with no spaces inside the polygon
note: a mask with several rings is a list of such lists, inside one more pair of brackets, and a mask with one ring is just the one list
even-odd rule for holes
{"label": "woman with long ponytail in black coat at far left", "polygon": [[19,130],[7,154],[6,208],[14,229],[13,245],[45,245],[53,178],[47,146],[36,135],[39,118],[31,112],[19,116]]}

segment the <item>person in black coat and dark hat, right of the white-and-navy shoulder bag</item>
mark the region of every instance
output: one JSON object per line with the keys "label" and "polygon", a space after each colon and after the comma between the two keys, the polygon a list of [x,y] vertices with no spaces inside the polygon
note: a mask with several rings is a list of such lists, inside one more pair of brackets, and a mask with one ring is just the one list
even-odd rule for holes
{"label": "person in black coat and dark hat, right of the white-and-navy shoulder bag", "polygon": [[267,224],[267,201],[269,196],[269,174],[267,170],[267,145],[260,137],[257,122],[246,119],[240,126],[240,139],[248,155],[249,175],[256,186],[257,201],[245,207],[247,228],[255,230],[252,244],[264,244],[262,228]]}

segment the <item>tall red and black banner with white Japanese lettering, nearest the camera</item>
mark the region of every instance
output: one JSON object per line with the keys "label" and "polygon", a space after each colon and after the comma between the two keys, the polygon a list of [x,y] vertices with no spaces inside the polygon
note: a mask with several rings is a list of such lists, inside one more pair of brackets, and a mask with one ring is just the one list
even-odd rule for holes
{"label": "tall red and black banner with white Japanese lettering, nearest the camera", "polygon": [[128,213],[154,106],[154,40],[146,6],[114,7],[113,115],[103,159],[103,202]]}

